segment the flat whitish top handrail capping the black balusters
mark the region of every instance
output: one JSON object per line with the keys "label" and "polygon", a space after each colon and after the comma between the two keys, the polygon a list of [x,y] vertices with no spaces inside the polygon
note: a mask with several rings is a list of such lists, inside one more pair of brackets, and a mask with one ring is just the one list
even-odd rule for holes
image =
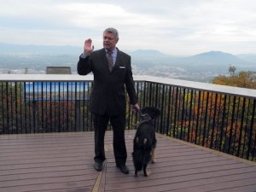
{"label": "flat whitish top handrail capping the black balusters", "polygon": [[[30,81],[92,81],[92,75],[70,75],[70,74],[1,74],[0,82],[1,81],[11,81],[11,82],[30,82]],[[245,96],[249,98],[256,98],[256,90],[247,89],[247,88],[240,88],[240,87],[232,87],[226,85],[219,85],[219,84],[207,84],[201,82],[194,82],[188,80],[181,80],[181,79],[167,79],[167,78],[160,78],[160,77],[152,77],[147,75],[134,75],[135,81],[140,82],[154,82],[159,84],[169,84],[175,85],[182,88],[192,88],[195,90],[207,90],[213,91],[218,93],[229,94],[232,96]]]}

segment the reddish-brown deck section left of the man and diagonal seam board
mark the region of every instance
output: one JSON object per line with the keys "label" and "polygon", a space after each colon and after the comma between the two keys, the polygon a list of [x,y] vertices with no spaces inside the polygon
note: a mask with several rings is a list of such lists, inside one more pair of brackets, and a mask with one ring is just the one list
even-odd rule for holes
{"label": "reddish-brown deck section left of the man and diagonal seam board", "polygon": [[[0,191],[91,191],[92,133],[1,136]],[[88,155],[89,154],[89,155]]]}

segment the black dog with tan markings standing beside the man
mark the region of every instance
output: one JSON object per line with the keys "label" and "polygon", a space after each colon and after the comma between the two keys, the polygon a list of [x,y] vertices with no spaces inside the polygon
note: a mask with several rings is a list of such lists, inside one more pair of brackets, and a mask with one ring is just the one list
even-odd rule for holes
{"label": "black dog with tan markings standing beside the man", "polygon": [[133,140],[132,160],[135,167],[135,176],[143,169],[144,176],[147,177],[149,161],[155,162],[156,138],[153,119],[160,115],[160,109],[146,107],[142,109],[142,120],[137,127],[137,132]]}

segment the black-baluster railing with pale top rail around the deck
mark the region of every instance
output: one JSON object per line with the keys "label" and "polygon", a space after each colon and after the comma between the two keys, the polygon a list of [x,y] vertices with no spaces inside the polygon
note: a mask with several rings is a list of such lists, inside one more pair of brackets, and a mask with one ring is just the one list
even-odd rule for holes
{"label": "black-baluster railing with pale top rail around the deck", "polygon": [[[256,90],[135,76],[141,108],[160,108],[155,129],[189,143],[255,160]],[[92,131],[92,76],[2,75],[0,134]],[[127,102],[126,128],[139,116]]]}

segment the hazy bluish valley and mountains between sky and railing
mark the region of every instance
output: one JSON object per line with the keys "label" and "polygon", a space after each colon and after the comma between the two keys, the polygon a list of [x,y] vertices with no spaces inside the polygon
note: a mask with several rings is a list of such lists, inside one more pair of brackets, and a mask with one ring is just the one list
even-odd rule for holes
{"label": "hazy bluish valley and mountains between sky and railing", "polygon": [[[0,73],[45,73],[46,67],[76,67],[83,47],[0,43]],[[198,55],[165,55],[159,50],[124,50],[131,55],[133,73],[155,77],[210,82],[228,74],[230,66],[239,71],[256,71],[256,54],[231,55],[208,51]]]}

